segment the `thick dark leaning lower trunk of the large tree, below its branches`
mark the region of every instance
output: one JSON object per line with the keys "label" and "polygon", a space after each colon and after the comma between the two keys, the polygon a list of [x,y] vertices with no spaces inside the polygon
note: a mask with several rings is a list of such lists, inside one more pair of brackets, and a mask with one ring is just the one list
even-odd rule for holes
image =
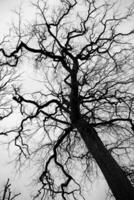
{"label": "thick dark leaning lower trunk of the large tree, below its branches", "polygon": [[116,200],[134,200],[134,188],[127,176],[105,148],[96,130],[83,119],[75,127],[81,134],[88,150],[100,167]]}

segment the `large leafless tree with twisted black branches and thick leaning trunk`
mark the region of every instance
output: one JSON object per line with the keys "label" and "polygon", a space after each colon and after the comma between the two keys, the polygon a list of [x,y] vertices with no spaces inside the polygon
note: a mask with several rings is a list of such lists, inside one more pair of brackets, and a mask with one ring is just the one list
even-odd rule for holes
{"label": "large leafless tree with twisted black branches and thick leaning trunk", "polygon": [[11,67],[29,52],[44,73],[44,91],[16,87],[13,97],[23,116],[14,138],[18,160],[37,155],[42,166],[36,197],[86,198],[74,171],[79,161],[85,174],[97,163],[114,197],[132,200],[134,30],[122,27],[133,5],[121,12],[118,2],[95,0],[34,6],[28,34],[19,34],[12,52],[0,51]]}

